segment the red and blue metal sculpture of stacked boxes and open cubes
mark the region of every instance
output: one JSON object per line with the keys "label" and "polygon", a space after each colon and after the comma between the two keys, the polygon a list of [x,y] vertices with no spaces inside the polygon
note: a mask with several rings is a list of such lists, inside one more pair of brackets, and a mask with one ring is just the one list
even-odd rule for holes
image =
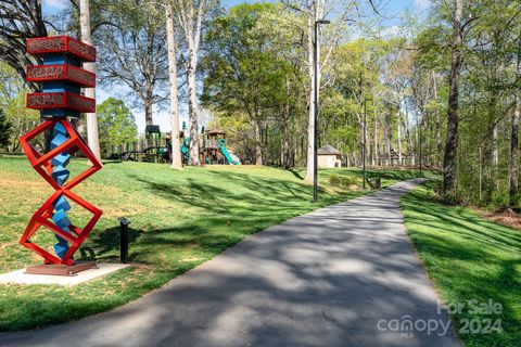
{"label": "red and blue metal sculpture of stacked boxes and open cubes", "polygon": [[[27,53],[41,56],[43,65],[27,66],[27,80],[42,86],[39,93],[28,93],[26,106],[40,110],[43,123],[20,139],[30,165],[55,190],[54,194],[33,215],[20,243],[45,258],[46,264],[74,265],[73,256],[89,235],[102,211],[87,203],[71,189],[101,169],[101,163],[85,140],[67,120],[80,113],[96,111],[96,100],[82,97],[81,88],[93,88],[96,75],[82,69],[82,62],[96,61],[96,49],[66,36],[27,40]],[[31,143],[51,132],[49,151],[38,151]],[[43,152],[43,153],[42,153]],[[71,156],[81,152],[92,164],[71,178],[66,168]],[[67,216],[71,202],[87,209],[92,217],[82,228],[73,224]],[[30,237],[45,227],[54,233],[54,253],[33,243]]]}

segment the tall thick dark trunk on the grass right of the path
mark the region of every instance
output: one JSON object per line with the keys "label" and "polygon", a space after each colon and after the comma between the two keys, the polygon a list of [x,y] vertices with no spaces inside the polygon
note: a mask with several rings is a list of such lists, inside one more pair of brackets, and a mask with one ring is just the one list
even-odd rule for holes
{"label": "tall thick dark trunk on the grass right of the path", "polygon": [[454,0],[454,41],[450,63],[450,83],[448,91],[447,112],[447,141],[443,157],[443,194],[445,196],[456,193],[456,155],[458,150],[458,108],[459,108],[459,75],[462,64],[463,29],[461,18],[463,14],[463,0]]}

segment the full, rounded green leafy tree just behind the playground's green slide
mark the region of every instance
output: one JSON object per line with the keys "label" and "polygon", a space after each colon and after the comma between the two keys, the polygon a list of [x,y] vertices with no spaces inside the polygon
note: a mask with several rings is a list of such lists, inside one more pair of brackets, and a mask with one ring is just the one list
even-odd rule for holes
{"label": "full, rounded green leafy tree just behind the playground's green slide", "polygon": [[263,124],[281,110],[290,78],[289,64],[277,57],[277,37],[258,22],[280,7],[240,4],[217,18],[207,35],[203,102],[231,117],[244,117],[255,140],[255,164],[263,165]]}

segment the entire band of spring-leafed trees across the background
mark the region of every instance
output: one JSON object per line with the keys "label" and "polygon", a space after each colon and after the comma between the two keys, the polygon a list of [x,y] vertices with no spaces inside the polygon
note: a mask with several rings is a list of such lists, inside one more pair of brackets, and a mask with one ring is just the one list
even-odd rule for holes
{"label": "entire band of spring-leafed trees across the background", "polygon": [[[1,26],[10,30],[0,36],[0,59],[21,76],[27,63],[23,54],[17,59],[23,35],[79,37],[77,0],[63,15],[35,11],[14,22],[5,20],[8,12],[39,1],[4,2]],[[320,27],[320,146],[333,145],[345,153],[345,165],[359,166],[365,142],[368,165],[443,170],[447,198],[521,204],[519,0],[433,0],[428,9],[401,14],[392,27],[376,24],[386,9],[368,0],[230,9],[209,0],[89,3],[99,82],[143,110],[147,125],[171,105],[174,139],[180,103],[188,108],[192,143],[202,126],[219,126],[244,163],[307,166],[310,174],[313,29],[328,18],[331,24]],[[0,88],[2,108],[10,121],[21,123],[16,113],[28,114],[20,100],[23,85],[5,64],[0,78],[13,87]],[[12,105],[18,105],[15,112]],[[203,117],[208,113],[209,119]],[[26,119],[34,123],[35,115]],[[21,127],[11,129],[11,150]]]}

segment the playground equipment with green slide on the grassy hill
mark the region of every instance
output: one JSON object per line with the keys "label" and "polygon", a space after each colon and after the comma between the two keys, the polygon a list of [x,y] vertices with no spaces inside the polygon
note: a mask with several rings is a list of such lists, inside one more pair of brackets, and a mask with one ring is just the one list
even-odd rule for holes
{"label": "playground equipment with green slide on the grassy hill", "polygon": [[[209,165],[240,165],[240,159],[226,146],[226,132],[221,129],[201,131],[200,160]],[[187,136],[187,126],[182,123],[179,133],[182,164],[190,160],[191,139]],[[168,163],[171,153],[171,137],[163,136],[160,126],[147,126],[145,137],[140,141],[126,143],[112,149],[110,159],[144,163]]]}

